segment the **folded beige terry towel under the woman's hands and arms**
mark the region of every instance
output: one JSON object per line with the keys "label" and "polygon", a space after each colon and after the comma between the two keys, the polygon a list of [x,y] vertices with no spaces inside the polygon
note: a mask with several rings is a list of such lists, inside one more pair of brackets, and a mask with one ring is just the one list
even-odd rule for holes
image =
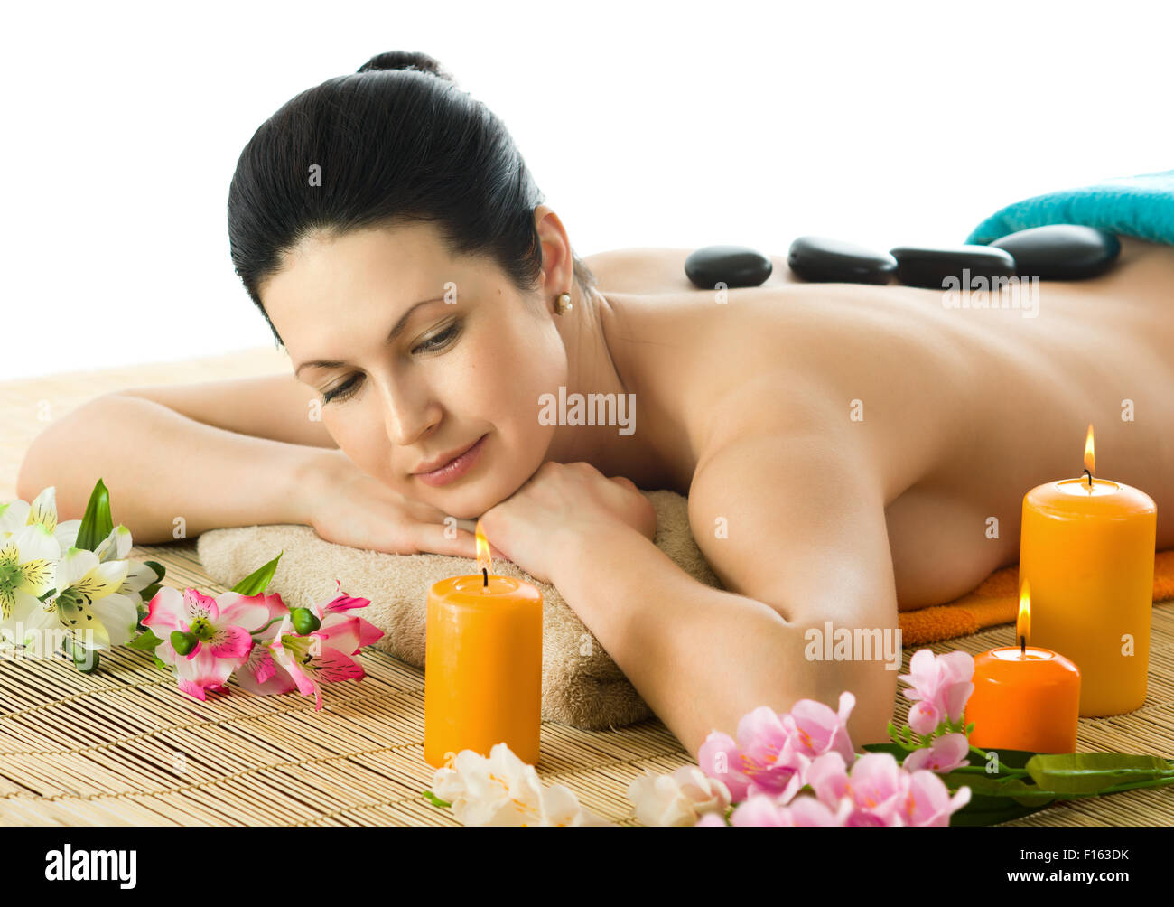
{"label": "folded beige terry towel under the woman's hands and arms", "polygon": [[[689,576],[721,587],[693,539],[687,499],[674,491],[642,493],[656,508],[656,545]],[[375,646],[416,667],[424,666],[429,587],[446,577],[477,572],[472,558],[365,551],[325,542],[312,528],[298,525],[210,530],[200,536],[197,551],[208,575],[229,587],[284,551],[270,589],[291,607],[333,598],[337,578],[348,594],[371,599],[363,617],[384,631]],[[542,593],[545,720],[601,731],[652,714],[558,590],[510,562],[495,560],[493,572],[520,577]]]}

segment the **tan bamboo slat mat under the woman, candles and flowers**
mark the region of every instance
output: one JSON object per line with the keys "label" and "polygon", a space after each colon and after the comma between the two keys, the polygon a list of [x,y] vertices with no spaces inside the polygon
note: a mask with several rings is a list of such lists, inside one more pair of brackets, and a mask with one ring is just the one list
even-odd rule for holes
{"label": "tan bamboo slat mat under the woman, candles and flowers", "polygon": [[[283,368],[283,355],[265,349],[0,384],[0,500],[15,496],[16,468],[43,428],[34,414],[46,401],[56,418],[108,390]],[[193,539],[135,546],[130,556],[166,564],[169,585],[223,591],[203,573]],[[1007,625],[929,647],[977,654],[1011,645],[1012,636]],[[904,651],[903,672],[917,647]],[[0,822],[457,825],[450,811],[420,797],[433,773],[423,757],[424,672],[382,652],[360,658],[367,677],[325,684],[321,712],[296,694],[237,688],[198,703],[128,649],[103,652],[92,676],[62,660],[0,660]],[[898,724],[908,706],[898,697]],[[1174,602],[1154,606],[1145,704],[1125,715],[1081,719],[1078,748],[1174,757]],[[605,732],[542,724],[539,775],[618,825],[637,825],[626,795],[633,778],[690,762],[657,719]],[[1174,825],[1174,790],[1064,802],[1008,825]]]}

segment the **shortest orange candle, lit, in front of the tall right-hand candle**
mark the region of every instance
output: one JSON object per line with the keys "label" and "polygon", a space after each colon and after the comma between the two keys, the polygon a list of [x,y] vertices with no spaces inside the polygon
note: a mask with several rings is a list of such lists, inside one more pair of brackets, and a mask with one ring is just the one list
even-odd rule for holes
{"label": "shortest orange candle, lit, in front of the tall right-hand candle", "polygon": [[966,700],[970,741],[984,750],[1074,753],[1080,715],[1080,671],[1048,649],[1028,646],[1030,587],[1019,596],[1019,645],[992,649],[974,659],[974,691]]}

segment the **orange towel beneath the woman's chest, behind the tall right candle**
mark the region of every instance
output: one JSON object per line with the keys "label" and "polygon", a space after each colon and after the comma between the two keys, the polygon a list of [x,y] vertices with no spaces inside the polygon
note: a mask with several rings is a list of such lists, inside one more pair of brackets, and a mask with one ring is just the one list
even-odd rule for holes
{"label": "orange towel beneath the woman's chest, behind the tall right candle", "polygon": [[[1174,598],[1174,550],[1154,556],[1154,602]],[[1019,610],[1019,566],[996,570],[983,584],[947,605],[903,611],[902,645],[937,643],[983,627],[1011,624]]]}

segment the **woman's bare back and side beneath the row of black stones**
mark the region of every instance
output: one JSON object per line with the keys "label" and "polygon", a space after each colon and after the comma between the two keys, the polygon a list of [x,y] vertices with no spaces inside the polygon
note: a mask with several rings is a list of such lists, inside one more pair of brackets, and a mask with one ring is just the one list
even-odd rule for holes
{"label": "woman's bare back and side beneath the row of black stones", "polygon": [[609,348],[660,451],[625,475],[686,493],[709,451],[830,399],[877,464],[910,610],[1018,559],[1023,495],[1080,473],[1092,423],[1098,475],[1149,493],[1172,547],[1174,248],[1122,247],[1101,277],[1041,282],[1034,317],[947,308],[940,290],[801,283],[780,257],[767,284],[721,302],[684,280],[686,250],[593,256]]}

